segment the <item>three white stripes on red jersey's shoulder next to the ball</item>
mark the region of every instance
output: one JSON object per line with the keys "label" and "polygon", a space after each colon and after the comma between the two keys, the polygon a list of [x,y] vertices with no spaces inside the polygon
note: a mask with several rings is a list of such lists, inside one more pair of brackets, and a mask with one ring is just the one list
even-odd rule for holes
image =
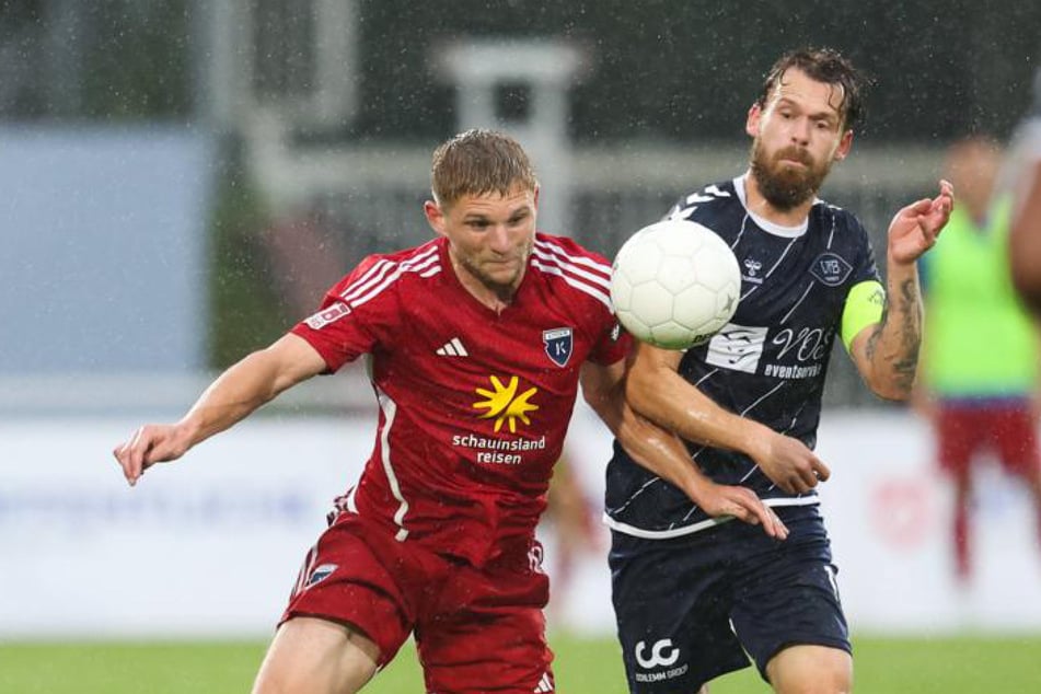
{"label": "three white stripes on red jersey's shoulder next to the ball", "polygon": [[539,232],[530,267],[543,282],[611,306],[611,262],[574,239]]}

